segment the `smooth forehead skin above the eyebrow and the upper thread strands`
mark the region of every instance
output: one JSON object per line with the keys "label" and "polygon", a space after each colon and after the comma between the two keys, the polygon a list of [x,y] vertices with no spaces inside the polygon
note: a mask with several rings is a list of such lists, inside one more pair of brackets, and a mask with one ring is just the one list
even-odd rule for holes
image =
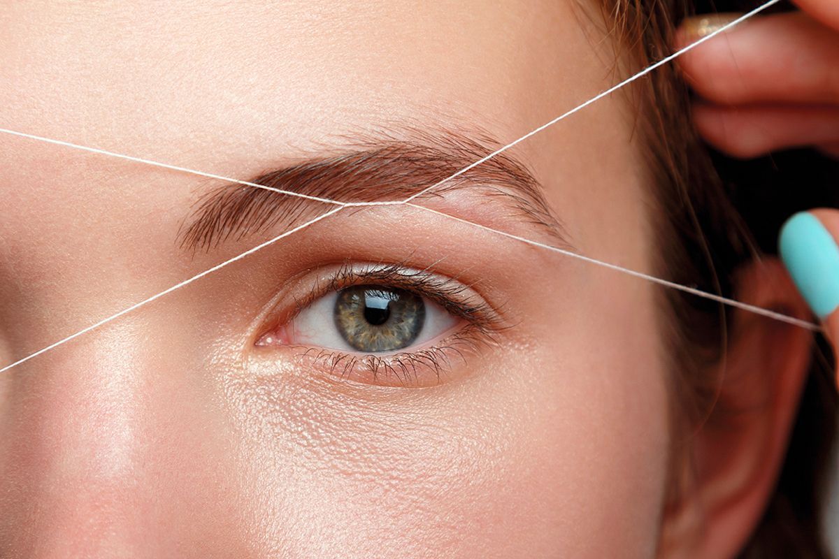
{"label": "smooth forehead skin above the eyebrow and the upper thread strands", "polygon": [[149,157],[213,146],[276,158],[325,135],[417,119],[478,122],[512,139],[602,78],[564,0],[4,12],[0,103],[15,126]]}

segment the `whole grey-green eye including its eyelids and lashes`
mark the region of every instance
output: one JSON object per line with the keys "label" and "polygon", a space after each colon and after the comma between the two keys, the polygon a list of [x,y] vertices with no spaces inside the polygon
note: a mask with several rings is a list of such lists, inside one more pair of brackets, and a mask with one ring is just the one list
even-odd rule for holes
{"label": "whole grey-green eye including its eyelids and lashes", "polygon": [[344,380],[435,386],[508,326],[474,287],[430,268],[344,262],[299,282],[281,298],[254,346]]}

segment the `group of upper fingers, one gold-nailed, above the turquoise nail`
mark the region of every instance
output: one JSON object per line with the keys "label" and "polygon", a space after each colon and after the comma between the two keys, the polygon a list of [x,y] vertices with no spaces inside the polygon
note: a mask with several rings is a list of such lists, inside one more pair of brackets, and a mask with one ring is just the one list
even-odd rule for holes
{"label": "group of upper fingers, one gold-nailed, above the turquoise nail", "polygon": [[[696,127],[735,157],[815,146],[839,157],[839,2],[798,0],[803,12],[757,16],[680,57],[702,101]],[[685,46],[732,18],[688,19]]]}

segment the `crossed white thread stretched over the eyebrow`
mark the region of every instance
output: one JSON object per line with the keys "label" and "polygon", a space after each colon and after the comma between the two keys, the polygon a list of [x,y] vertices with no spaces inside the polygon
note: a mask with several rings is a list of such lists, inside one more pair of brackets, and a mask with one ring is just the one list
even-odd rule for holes
{"label": "crossed white thread stretched over the eyebrow", "polygon": [[57,341],[53,344],[50,344],[50,345],[48,345],[48,346],[46,346],[42,349],[39,349],[38,351],[35,351],[34,353],[29,354],[29,355],[23,357],[22,359],[13,362],[10,365],[6,365],[2,369],[0,369],[0,373],[3,373],[6,370],[9,370],[9,369],[12,369],[13,367],[21,365],[21,364],[25,363],[26,361],[29,361],[29,360],[33,359],[34,357],[37,357],[38,355],[44,354],[45,352],[50,351],[50,349],[55,349],[56,347],[58,347],[62,344],[65,344],[72,339],[76,339],[79,336],[81,336],[83,334],[86,334],[93,329],[97,329],[97,328],[99,328],[100,326],[102,326],[106,323],[112,322],[112,320],[115,320],[115,319],[121,317],[124,314],[130,313],[133,310],[136,310],[137,308],[143,307],[144,305],[146,305],[148,303],[152,303],[153,301],[155,301],[155,300],[157,300],[161,297],[164,297],[164,295],[167,295],[170,292],[174,292],[175,290],[180,289],[180,287],[185,287],[186,285],[189,285],[190,283],[195,282],[198,279],[201,279],[201,277],[205,277],[206,275],[211,274],[212,272],[216,272],[217,270],[221,269],[222,267],[226,267],[228,264],[231,264],[232,262],[241,260],[245,256],[251,255],[256,251],[258,251],[260,249],[263,249],[264,247],[266,247],[268,245],[271,245],[274,242],[279,241],[280,239],[283,239],[286,236],[289,236],[289,235],[291,235],[291,234],[293,234],[297,231],[303,230],[306,227],[308,227],[309,225],[313,225],[317,221],[323,220],[330,215],[336,214],[338,211],[340,211],[344,208],[354,207],[354,206],[383,206],[383,205],[406,204],[406,205],[412,206],[414,208],[429,211],[429,212],[435,213],[437,215],[445,216],[446,218],[449,218],[451,220],[457,220],[457,221],[460,221],[461,223],[472,225],[472,226],[477,227],[479,229],[487,230],[487,231],[490,231],[492,233],[496,233],[496,234],[501,235],[501,236],[506,236],[510,239],[521,241],[521,242],[527,243],[527,244],[532,245],[532,246],[539,246],[539,247],[547,249],[549,251],[559,252],[560,254],[564,254],[565,256],[573,256],[573,257],[578,258],[582,261],[590,262],[592,264],[597,264],[598,266],[607,267],[609,269],[612,269],[612,270],[615,270],[615,271],[618,271],[618,272],[623,272],[623,273],[626,273],[626,274],[628,274],[630,276],[633,276],[633,277],[638,277],[638,278],[648,280],[650,282],[658,283],[659,285],[662,285],[664,287],[671,287],[671,288],[678,289],[678,290],[683,291],[683,292],[691,293],[693,295],[696,295],[697,297],[711,299],[712,301],[716,301],[717,303],[723,303],[723,304],[730,305],[732,307],[742,308],[743,310],[747,310],[747,311],[750,311],[750,312],[753,312],[753,313],[761,314],[761,315],[767,316],[769,318],[774,318],[776,320],[780,320],[780,321],[785,322],[785,323],[794,324],[796,326],[800,326],[800,327],[805,328],[805,329],[819,330],[821,328],[817,324],[809,323],[807,321],[800,320],[799,318],[789,317],[789,316],[787,316],[785,314],[782,314],[782,313],[775,313],[774,311],[770,311],[769,309],[756,307],[754,305],[749,305],[747,303],[741,303],[741,302],[736,301],[734,299],[724,298],[722,296],[715,295],[715,294],[709,293],[709,292],[704,292],[704,291],[701,291],[699,289],[695,289],[693,287],[683,286],[683,285],[680,285],[679,283],[669,282],[669,281],[661,279],[659,277],[649,276],[648,274],[644,274],[642,272],[636,272],[634,270],[630,270],[628,268],[620,267],[620,266],[617,266],[615,264],[610,264],[608,262],[599,261],[599,260],[596,260],[594,258],[590,258],[588,256],[582,256],[580,254],[577,254],[576,252],[565,251],[565,250],[560,249],[560,248],[555,247],[555,246],[550,246],[550,245],[546,245],[544,243],[539,243],[538,241],[531,241],[531,240],[526,239],[526,238],[521,237],[521,236],[516,236],[516,235],[513,235],[511,233],[506,233],[506,232],[501,231],[501,230],[495,230],[495,229],[492,229],[491,227],[487,227],[486,225],[480,225],[480,224],[477,224],[477,223],[473,223],[472,221],[463,220],[461,218],[455,217],[454,215],[449,215],[449,214],[446,214],[446,213],[443,213],[443,212],[440,212],[440,211],[437,211],[437,210],[431,210],[430,208],[426,208],[425,206],[420,206],[419,204],[412,204],[411,203],[411,201],[413,199],[416,199],[420,195],[429,192],[431,189],[435,189],[436,187],[440,186],[440,184],[444,184],[451,179],[455,179],[456,177],[460,176],[462,173],[466,173],[466,171],[477,167],[477,165],[480,165],[481,163],[485,163],[487,160],[489,160],[493,157],[496,157],[498,154],[503,153],[504,151],[508,150],[509,148],[513,148],[513,146],[515,146],[515,145],[519,144],[520,142],[523,142],[527,138],[532,137],[535,134],[545,130],[545,128],[554,125],[556,122],[560,122],[566,116],[571,116],[575,112],[580,111],[581,109],[585,108],[586,106],[591,105],[591,103],[602,99],[603,97],[613,93],[614,91],[618,91],[618,89],[620,89],[624,85],[628,85],[629,83],[633,82],[634,80],[637,80],[638,78],[649,74],[649,72],[655,70],[659,66],[664,65],[667,62],[670,62],[670,60],[675,59],[677,56],[680,56],[681,54],[684,54],[688,50],[693,49],[694,47],[696,47],[696,45],[701,44],[708,39],[711,39],[712,37],[716,36],[717,34],[721,34],[722,32],[726,31],[728,28],[732,28],[734,25],[737,25],[737,23],[743,22],[745,19],[748,19],[748,18],[752,17],[754,14],[759,13],[759,12],[763,11],[764,9],[769,8],[769,6],[772,6],[773,4],[778,3],[778,2],[779,2],[779,0],[769,0],[769,2],[764,3],[763,5],[759,6],[758,8],[753,9],[751,12],[744,14],[743,16],[735,19],[731,23],[727,23],[722,28],[717,29],[713,33],[707,34],[705,37],[702,37],[701,39],[697,40],[695,43],[689,44],[685,48],[676,51],[674,54],[670,54],[670,56],[667,56],[664,59],[659,60],[654,65],[648,66],[646,69],[641,70],[640,72],[638,72],[638,74],[633,75],[632,77],[628,78],[627,80],[623,80],[618,85],[614,85],[611,88],[607,89],[606,91],[602,91],[597,96],[594,96],[590,100],[588,100],[588,101],[582,103],[581,105],[576,106],[575,108],[571,109],[571,111],[566,111],[565,113],[556,117],[552,121],[547,122],[547,123],[543,124],[542,126],[534,129],[533,131],[528,132],[524,136],[519,137],[519,139],[508,143],[503,148],[499,148],[498,150],[496,150],[496,151],[490,153],[489,155],[487,155],[486,157],[478,159],[475,163],[472,163],[472,164],[466,166],[465,168],[462,168],[457,173],[454,173],[451,176],[447,177],[446,179],[442,179],[442,180],[438,181],[437,183],[432,184],[429,187],[420,190],[420,192],[418,192],[416,194],[412,194],[411,196],[409,196],[408,198],[406,198],[404,200],[393,200],[393,201],[383,201],[383,202],[340,202],[338,200],[319,198],[319,197],[316,197],[316,196],[309,196],[309,195],[306,195],[306,194],[295,193],[295,192],[291,192],[291,191],[288,191],[288,190],[273,189],[273,188],[270,188],[270,187],[266,187],[263,184],[249,183],[247,181],[242,181],[242,180],[238,180],[238,179],[229,179],[227,177],[222,177],[221,175],[216,175],[216,174],[213,174],[213,173],[204,173],[204,172],[201,172],[201,171],[197,171],[195,169],[179,167],[179,166],[176,166],[176,165],[169,165],[168,163],[159,163],[159,162],[156,162],[156,161],[151,161],[149,159],[135,158],[133,156],[125,155],[125,154],[122,154],[122,153],[109,152],[107,150],[98,149],[98,148],[88,148],[86,146],[81,146],[81,145],[76,144],[76,143],[64,142],[62,140],[55,140],[55,139],[52,139],[52,138],[35,136],[34,134],[17,132],[17,131],[9,130],[8,128],[0,128],[0,132],[6,133],[6,134],[11,134],[11,135],[14,135],[14,136],[27,137],[29,139],[38,140],[38,141],[41,141],[41,142],[53,143],[53,144],[57,144],[57,145],[60,145],[60,146],[67,147],[67,148],[76,148],[76,149],[81,149],[81,150],[86,151],[86,152],[98,153],[98,154],[101,154],[101,155],[106,155],[106,156],[110,156],[110,157],[114,157],[114,158],[122,158],[122,159],[126,159],[128,161],[133,161],[133,162],[136,162],[136,163],[145,163],[145,164],[148,164],[148,165],[152,165],[154,167],[168,168],[170,170],[175,170],[175,171],[179,171],[179,172],[182,172],[182,173],[196,174],[196,175],[200,175],[200,176],[203,176],[203,177],[208,177],[208,178],[211,178],[211,179],[220,179],[220,180],[228,181],[228,182],[231,182],[231,183],[234,183],[234,184],[243,184],[243,185],[246,185],[246,186],[252,186],[254,188],[272,190],[272,191],[277,192],[279,194],[287,194],[289,196],[297,196],[299,198],[311,199],[311,200],[315,200],[315,201],[318,201],[318,202],[324,202],[326,204],[335,204],[337,206],[333,210],[327,211],[326,213],[321,214],[321,215],[317,216],[316,218],[305,222],[302,225],[298,225],[297,227],[294,227],[291,230],[285,231],[284,233],[282,233],[279,236],[274,237],[273,239],[265,241],[262,244],[260,244],[258,246],[255,246],[252,249],[249,249],[248,251],[242,252],[241,254],[239,254],[237,256],[233,256],[231,259],[221,262],[221,264],[217,264],[216,266],[211,267],[210,269],[205,270],[204,272],[196,274],[195,276],[190,277],[189,279],[186,279],[183,282],[180,282],[180,283],[178,283],[178,284],[176,284],[172,287],[169,287],[168,289],[165,289],[162,292],[156,293],[155,295],[153,295],[149,298],[143,299],[143,301],[140,301],[139,303],[135,303],[131,307],[125,308],[122,311],[119,311],[118,313],[112,314],[111,316],[109,316],[107,318],[103,318],[99,322],[91,324],[91,326],[88,326],[85,329],[81,329],[78,332],[76,332],[75,334],[70,334],[66,338],[60,339],[59,341]]}

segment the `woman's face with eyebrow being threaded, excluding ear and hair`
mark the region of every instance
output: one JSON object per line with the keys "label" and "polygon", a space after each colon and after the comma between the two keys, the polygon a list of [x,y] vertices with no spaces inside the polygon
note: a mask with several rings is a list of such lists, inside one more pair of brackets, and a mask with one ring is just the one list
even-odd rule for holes
{"label": "woman's face with eyebrow being threaded, excluding ear and hair", "polygon": [[[570,2],[10,4],[3,127],[404,199],[612,85],[587,21]],[[625,102],[414,202],[650,272]],[[3,364],[334,207],[21,137],[0,153]],[[414,207],[341,210],[2,373],[0,549],[651,556],[654,295]]]}

